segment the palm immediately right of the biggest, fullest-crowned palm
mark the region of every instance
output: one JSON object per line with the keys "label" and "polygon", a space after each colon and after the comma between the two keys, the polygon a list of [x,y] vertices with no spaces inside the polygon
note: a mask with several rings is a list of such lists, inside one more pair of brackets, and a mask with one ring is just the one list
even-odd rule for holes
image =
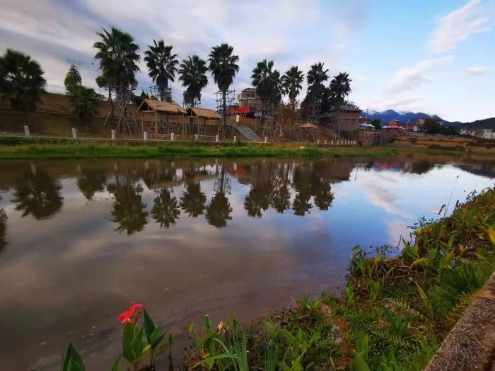
{"label": "palm immediately right of the biggest, fullest-crowned palm", "polygon": [[[144,52],[144,61],[148,66],[148,75],[153,79],[158,91],[160,99],[163,101],[165,90],[168,88],[168,81],[174,81],[177,73],[177,64],[179,61],[175,59],[176,54],[172,54],[172,45],[165,45],[163,40],[153,40],[153,45],[148,45],[148,50]],[[170,96],[167,97],[170,100]]]}

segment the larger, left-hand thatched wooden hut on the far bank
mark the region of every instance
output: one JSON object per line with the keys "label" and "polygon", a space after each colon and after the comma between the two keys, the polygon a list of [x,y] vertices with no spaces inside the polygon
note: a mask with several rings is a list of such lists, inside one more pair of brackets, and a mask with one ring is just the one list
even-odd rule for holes
{"label": "larger, left-hand thatched wooden hut on the far bank", "polygon": [[141,130],[150,136],[158,138],[174,133],[185,137],[189,134],[184,120],[187,113],[177,103],[146,98],[137,111],[141,114]]}

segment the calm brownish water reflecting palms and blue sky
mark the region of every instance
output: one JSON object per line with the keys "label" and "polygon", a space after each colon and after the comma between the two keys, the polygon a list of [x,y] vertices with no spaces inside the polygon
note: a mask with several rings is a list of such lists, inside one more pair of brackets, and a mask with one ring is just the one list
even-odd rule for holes
{"label": "calm brownish water reflecting palms and blue sky", "polygon": [[291,296],[337,290],[353,246],[396,246],[452,190],[450,208],[491,186],[494,165],[0,161],[1,369],[59,370],[73,341],[88,370],[109,370],[117,314],[132,301],[180,341],[205,312],[247,322]]}

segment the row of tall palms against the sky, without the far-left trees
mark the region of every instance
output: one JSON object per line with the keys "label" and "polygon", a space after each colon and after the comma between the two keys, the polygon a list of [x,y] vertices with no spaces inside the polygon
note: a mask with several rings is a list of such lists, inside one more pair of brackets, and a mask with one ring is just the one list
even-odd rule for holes
{"label": "row of tall palms against the sky, without the far-left trees", "polygon": [[[98,81],[106,81],[107,86],[132,86],[136,84],[135,72],[139,71],[137,62],[138,45],[128,33],[112,27],[110,31],[98,33],[101,40],[95,42],[98,50],[95,57],[100,60],[102,76]],[[211,48],[207,60],[198,55],[188,56],[179,62],[173,53],[173,46],[165,45],[163,40],[153,40],[144,52],[144,61],[148,67],[148,75],[158,88],[161,100],[170,100],[168,87],[175,81],[176,74],[185,87],[184,98],[186,103],[194,104],[201,101],[201,92],[208,84],[207,72],[213,76],[223,98],[223,112],[226,112],[226,96],[233,84],[233,79],[239,71],[239,57],[234,54],[233,47],[226,43]],[[291,67],[284,75],[274,69],[274,61],[262,60],[252,70],[252,86],[263,103],[279,103],[282,96],[289,97],[293,109],[296,108],[296,98],[302,90],[304,81],[303,72],[297,66]],[[306,76],[308,93],[303,103],[320,101],[323,106],[330,108],[343,104],[351,92],[349,74],[341,73],[334,76],[329,86],[328,69],[323,63],[316,63],[310,67]]]}

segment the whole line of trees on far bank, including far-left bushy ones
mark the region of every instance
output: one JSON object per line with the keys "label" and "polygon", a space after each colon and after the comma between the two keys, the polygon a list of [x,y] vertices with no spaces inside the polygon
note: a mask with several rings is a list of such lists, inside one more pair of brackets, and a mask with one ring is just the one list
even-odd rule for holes
{"label": "whole line of trees on far bank, including far-left bushy ones", "polygon": [[[116,27],[103,29],[97,33],[93,47],[96,50],[101,74],[95,82],[100,88],[108,90],[109,99],[112,89],[117,86],[136,88],[136,73],[140,72],[141,61],[139,45],[129,33]],[[208,84],[210,72],[214,83],[219,87],[223,98],[223,113],[226,113],[226,95],[239,72],[239,57],[235,55],[231,45],[222,43],[211,48],[206,59],[198,55],[189,55],[180,62],[173,52],[172,45],[165,45],[164,40],[153,40],[144,51],[144,62],[148,67],[148,76],[158,90],[158,98],[171,101],[170,83],[181,81],[185,88],[184,100],[192,104],[201,101],[201,93]],[[296,98],[302,90],[306,78],[308,92],[301,103],[301,108],[318,102],[323,112],[348,102],[351,92],[349,74],[340,73],[334,76],[330,84],[328,69],[324,63],[315,63],[304,76],[304,73],[293,66],[285,74],[274,69],[274,61],[264,59],[257,62],[252,69],[252,86],[263,103],[278,104],[282,96],[288,96],[293,110],[296,110]],[[81,121],[88,121],[98,108],[100,97],[93,89],[82,85],[81,74],[75,64],[71,64],[64,80],[66,93],[71,98],[76,115]],[[34,110],[40,94],[45,90],[46,81],[43,71],[35,60],[23,52],[8,49],[0,57],[0,92],[10,101],[12,108],[22,111]]]}

